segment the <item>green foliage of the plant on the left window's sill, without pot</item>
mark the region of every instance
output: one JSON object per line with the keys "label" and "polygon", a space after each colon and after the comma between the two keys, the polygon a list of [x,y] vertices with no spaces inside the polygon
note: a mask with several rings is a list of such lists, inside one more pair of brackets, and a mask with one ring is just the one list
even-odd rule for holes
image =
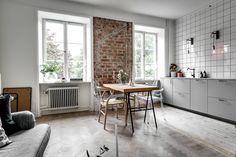
{"label": "green foliage of the plant on the left window's sill, without pot", "polygon": [[62,66],[58,62],[45,63],[41,65],[41,70],[40,70],[40,72],[44,75],[48,72],[60,73],[61,71],[62,71]]}

